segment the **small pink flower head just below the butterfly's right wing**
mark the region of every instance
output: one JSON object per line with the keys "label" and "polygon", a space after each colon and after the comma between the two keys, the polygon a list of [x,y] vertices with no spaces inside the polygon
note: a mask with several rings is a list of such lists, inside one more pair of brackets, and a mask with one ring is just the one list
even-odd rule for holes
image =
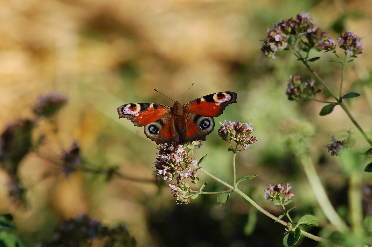
{"label": "small pink flower head just below the butterfly's right wing", "polygon": [[219,122],[221,128],[218,130],[219,136],[225,141],[234,141],[238,145],[242,145],[244,149],[248,146],[257,142],[257,138],[253,136],[252,120],[247,123],[241,123],[241,121],[229,121],[226,120],[224,123]]}

